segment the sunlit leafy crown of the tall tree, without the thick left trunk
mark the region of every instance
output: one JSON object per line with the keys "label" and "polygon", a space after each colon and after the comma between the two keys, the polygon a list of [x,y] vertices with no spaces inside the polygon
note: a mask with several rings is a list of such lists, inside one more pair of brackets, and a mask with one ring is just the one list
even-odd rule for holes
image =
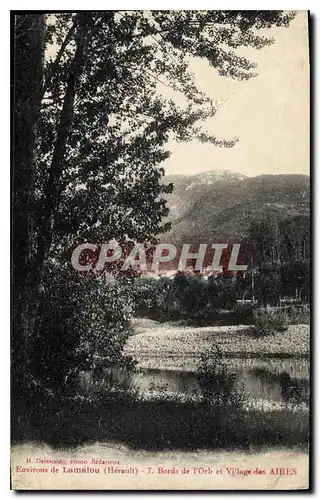
{"label": "sunlit leafy crown of the tall tree, without the thick left trunk", "polygon": [[[39,186],[39,194],[46,193],[45,203],[43,196],[39,201],[39,265],[43,247],[48,252],[50,240],[66,234],[116,239],[127,234],[145,240],[164,231],[161,219],[167,209],[161,195],[168,189],[160,186],[162,171],[156,167],[169,155],[169,136],[234,144],[209,136],[198,125],[216,109],[197,89],[188,58],[204,57],[224,76],[250,78],[254,64],[220,44],[261,48],[270,40],[257,36],[255,28],[287,25],[289,20],[281,12],[259,11],[57,15],[47,46],[57,41],[64,50],[56,71],[60,52],[46,68],[40,162],[47,175]],[[79,47],[84,55],[76,64]],[[69,110],[72,127],[70,123],[60,143],[57,124],[64,116],[70,72],[77,81],[77,98]],[[186,106],[161,97],[159,85],[181,91]],[[49,234],[44,228],[52,215]]]}

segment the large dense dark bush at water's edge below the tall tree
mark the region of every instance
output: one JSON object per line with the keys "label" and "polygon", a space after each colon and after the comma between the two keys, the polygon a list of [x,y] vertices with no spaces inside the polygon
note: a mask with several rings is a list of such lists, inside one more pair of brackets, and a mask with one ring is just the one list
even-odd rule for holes
{"label": "large dense dark bush at water's edge below the tall tree", "polygon": [[106,285],[99,276],[48,266],[31,339],[36,379],[54,392],[74,391],[81,370],[134,366],[122,353],[131,314],[130,291],[120,283]]}

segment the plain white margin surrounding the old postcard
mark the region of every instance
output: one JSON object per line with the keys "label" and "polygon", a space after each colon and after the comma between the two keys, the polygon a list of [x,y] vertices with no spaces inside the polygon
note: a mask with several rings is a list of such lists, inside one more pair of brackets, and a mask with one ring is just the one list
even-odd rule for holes
{"label": "plain white margin surrounding the old postcard", "polygon": [[[24,10],[24,9],[30,9],[30,10],[81,10],[81,9],[88,9],[90,7],[90,10],[107,10],[107,9],[112,9],[115,8],[117,10],[119,9],[182,9],[182,10],[187,10],[187,9],[224,9],[224,10],[234,10],[234,9],[285,9],[285,10],[306,10],[310,9],[311,14],[315,16],[315,22],[314,22],[314,42],[313,42],[313,48],[314,48],[314,87],[313,87],[313,102],[312,106],[314,109],[314,114],[313,114],[313,147],[314,147],[314,157],[313,157],[313,177],[312,177],[312,182],[313,182],[313,195],[314,195],[314,205],[313,205],[313,216],[314,216],[314,265],[316,262],[319,261],[317,259],[318,257],[318,252],[320,252],[320,245],[319,245],[319,235],[320,235],[320,213],[319,213],[319,203],[318,199],[320,197],[320,165],[319,165],[319,156],[316,154],[317,153],[317,145],[320,144],[320,134],[319,134],[319,129],[316,127],[316,122],[318,121],[318,114],[319,114],[319,108],[316,105],[317,102],[317,95],[318,95],[318,90],[319,90],[319,78],[318,78],[318,72],[320,68],[320,50],[319,50],[319,29],[320,29],[320,6],[319,2],[316,2],[316,0],[309,1],[309,2],[301,2],[301,1],[296,1],[296,0],[291,0],[291,1],[282,1],[281,5],[279,5],[278,1],[275,0],[269,0],[268,2],[237,2],[237,1],[230,1],[230,0],[224,0],[224,1],[203,1],[203,0],[198,0],[197,2],[190,2],[190,1],[166,1],[162,0],[161,2],[130,2],[130,1],[124,1],[124,0],[118,0],[117,2],[107,2],[107,1],[91,1],[90,4],[88,2],[80,1],[80,0],[73,0],[73,1],[61,1],[61,0],[55,0],[55,1],[48,1],[43,4],[43,2],[40,1],[29,1],[27,2],[28,5],[26,5],[26,2],[23,0],[15,0],[10,3],[10,9],[11,10]],[[89,9],[88,9],[89,10]],[[0,227],[1,227],[1,241],[2,241],[2,246],[1,246],[1,298],[0,298],[0,304],[1,304],[1,333],[2,333],[2,343],[1,343],[1,355],[2,355],[2,360],[0,363],[1,367],[1,381],[2,381],[2,390],[1,390],[1,447],[0,447],[0,457],[1,457],[1,462],[0,462],[0,470],[1,470],[1,479],[0,479],[0,487],[1,487],[1,498],[8,498],[9,495],[11,496],[13,492],[9,491],[9,440],[10,440],[10,435],[9,435],[9,328],[10,328],[10,320],[9,320],[9,307],[10,307],[10,302],[9,302],[9,283],[10,283],[10,246],[9,246],[9,241],[10,241],[10,218],[9,218],[9,213],[10,213],[10,127],[9,127],[9,116],[10,116],[10,87],[9,87],[9,81],[10,81],[10,52],[9,52],[9,33],[10,33],[10,28],[9,28],[9,7],[3,7],[1,6],[1,31],[0,31],[0,47],[2,49],[2,58],[1,58],[1,92],[0,92],[0,99],[1,99],[1,142],[2,142],[2,171],[1,171],[1,195],[0,195]],[[316,71],[315,71],[316,70]],[[320,325],[319,325],[319,316],[318,316],[318,309],[317,307],[317,299],[319,297],[318,292],[318,283],[320,283],[320,268],[317,266],[314,268],[314,274],[313,274],[313,279],[314,279],[314,291],[315,291],[315,298],[314,298],[314,314],[315,314],[315,322],[314,322],[314,328],[313,328],[313,346],[314,346],[314,380],[313,380],[313,386],[314,386],[314,408],[315,412],[313,415],[313,420],[314,420],[314,434],[313,434],[313,442],[314,442],[314,465],[316,466],[317,463],[317,456],[318,456],[318,449],[319,449],[319,442],[317,439],[318,432],[317,432],[317,422],[318,422],[318,412],[316,411],[317,409],[317,402],[319,401],[319,393],[320,393],[320,384],[318,384],[318,377],[317,377],[317,370],[316,367],[319,362],[319,350],[320,350],[320,340],[318,340],[318,332],[320,330]],[[320,382],[320,381],[319,381]],[[314,470],[314,483],[316,486],[316,489],[318,489],[319,481],[317,479],[317,474],[316,470]],[[75,492],[77,494],[77,492]],[[106,492],[108,497],[114,496],[114,494],[110,494]],[[44,493],[38,493],[37,497],[44,497],[47,494]],[[67,497],[67,494],[60,494],[62,497]],[[168,493],[166,496],[171,496],[172,494]],[[189,493],[190,495],[190,493]],[[218,492],[215,492],[214,495],[219,495]],[[260,495],[260,494],[259,494]],[[82,494],[82,498],[90,498],[90,494]],[[149,496],[149,495],[147,495]],[[181,494],[179,495],[181,496]],[[197,494],[193,494],[193,496],[197,496]],[[223,495],[225,496],[233,496],[233,494],[227,494]],[[276,498],[279,496],[281,498],[280,494],[275,494],[273,498]],[[119,494],[116,495],[116,497],[119,497]],[[187,496],[185,496],[187,498]]]}

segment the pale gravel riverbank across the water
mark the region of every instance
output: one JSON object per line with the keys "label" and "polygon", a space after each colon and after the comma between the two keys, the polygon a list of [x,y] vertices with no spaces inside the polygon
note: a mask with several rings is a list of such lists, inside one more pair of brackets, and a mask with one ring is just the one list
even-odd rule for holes
{"label": "pale gravel riverbank across the water", "polygon": [[290,325],[285,332],[262,338],[254,337],[252,327],[245,325],[188,327],[135,319],[133,329],[135,335],[129,338],[125,352],[141,368],[195,371],[201,354],[212,344],[233,360],[308,360],[310,355],[309,325]]}

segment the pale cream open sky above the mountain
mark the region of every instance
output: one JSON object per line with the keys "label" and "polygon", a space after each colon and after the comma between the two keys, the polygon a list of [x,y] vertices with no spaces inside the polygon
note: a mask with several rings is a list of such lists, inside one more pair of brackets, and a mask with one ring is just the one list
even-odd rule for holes
{"label": "pale cream open sky above the mountain", "polygon": [[223,102],[207,122],[218,139],[239,137],[233,148],[169,142],[167,175],[232,170],[248,176],[309,174],[309,56],[307,13],[300,11],[288,28],[271,28],[273,45],[242,48],[257,63],[258,76],[235,81],[217,74],[204,60],[192,69],[200,88]]}

